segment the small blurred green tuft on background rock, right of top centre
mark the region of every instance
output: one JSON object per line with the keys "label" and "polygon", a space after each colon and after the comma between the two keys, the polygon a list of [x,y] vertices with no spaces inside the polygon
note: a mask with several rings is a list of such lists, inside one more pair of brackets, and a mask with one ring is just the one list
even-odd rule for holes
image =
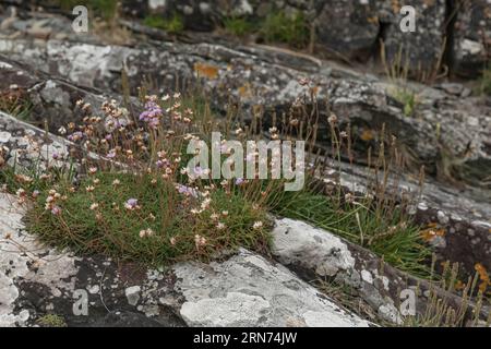
{"label": "small blurred green tuft on background rock, right of top centre", "polygon": [[260,24],[260,34],[266,43],[285,43],[296,48],[306,47],[310,38],[308,22],[302,12],[270,13]]}

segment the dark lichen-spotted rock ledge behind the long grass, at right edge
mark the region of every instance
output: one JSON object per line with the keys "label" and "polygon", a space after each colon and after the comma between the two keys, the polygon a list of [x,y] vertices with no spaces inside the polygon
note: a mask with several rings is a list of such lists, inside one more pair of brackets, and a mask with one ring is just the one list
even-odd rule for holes
{"label": "dark lichen-spotted rock ledge behind the long grass, at right edge", "polygon": [[[366,194],[367,183],[373,173],[358,166],[333,168],[325,173],[326,194],[333,183],[340,183],[347,192]],[[433,227],[443,233],[430,239],[436,266],[451,261],[458,263],[465,277],[474,276],[476,264],[491,268],[491,205],[488,194],[476,191],[460,191],[452,185],[427,178],[421,188],[411,176],[390,174],[386,191],[396,193],[400,201],[410,202],[408,214],[421,227]],[[483,195],[482,195],[483,194]]]}

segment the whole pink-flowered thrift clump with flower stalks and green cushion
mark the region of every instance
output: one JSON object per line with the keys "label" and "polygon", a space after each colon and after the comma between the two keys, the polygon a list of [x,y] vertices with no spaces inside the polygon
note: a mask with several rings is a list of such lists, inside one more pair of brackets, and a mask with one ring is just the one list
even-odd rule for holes
{"label": "whole pink-flowered thrift clump with flower stalks and green cushion", "polygon": [[86,107],[81,125],[67,125],[67,137],[84,149],[82,174],[76,183],[57,178],[36,196],[28,229],[60,248],[153,265],[239,245],[265,249],[261,200],[237,180],[219,183],[187,169],[187,145],[203,135],[193,110],[179,94],[147,96],[144,106],[132,118],[107,101],[101,116]]}

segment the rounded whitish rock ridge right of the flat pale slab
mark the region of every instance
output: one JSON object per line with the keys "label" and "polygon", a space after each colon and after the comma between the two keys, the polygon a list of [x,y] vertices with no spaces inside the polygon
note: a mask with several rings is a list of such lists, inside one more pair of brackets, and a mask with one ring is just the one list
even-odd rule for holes
{"label": "rounded whitish rock ridge right of the flat pale slab", "polygon": [[[350,287],[387,322],[403,322],[404,306],[400,303],[404,290],[414,292],[418,314],[424,314],[429,309],[430,296],[434,294],[430,290],[454,309],[462,306],[458,297],[406,275],[373,253],[302,221],[287,218],[276,221],[273,254],[282,264],[308,279],[335,280]],[[471,309],[468,311],[470,314]],[[482,317],[486,320],[488,314],[489,309],[484,310]]]}

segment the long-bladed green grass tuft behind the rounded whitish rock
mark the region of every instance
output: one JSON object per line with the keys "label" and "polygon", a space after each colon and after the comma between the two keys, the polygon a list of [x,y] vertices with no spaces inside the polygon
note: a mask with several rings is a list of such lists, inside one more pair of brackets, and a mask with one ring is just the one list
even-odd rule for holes
{"label": "long-bladed green grass tuft behind the rounded whitish rock", "polygon": [[420,228],[390,206],[351,194],[337,198],[306,190],[285,193],[275,212],[364,246],[402,270],[428,277],[431,252],[421,239]]}

